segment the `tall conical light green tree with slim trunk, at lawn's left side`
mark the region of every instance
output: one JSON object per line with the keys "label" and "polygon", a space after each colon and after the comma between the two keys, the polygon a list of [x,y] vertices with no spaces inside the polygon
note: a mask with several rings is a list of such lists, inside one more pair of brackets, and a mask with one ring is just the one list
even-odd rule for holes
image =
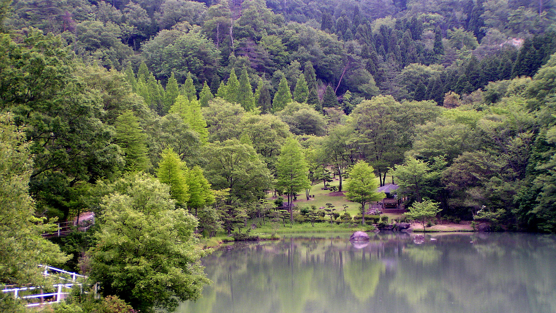
{"label": "tall conical light green tree with slim trunk, at lawn's left side", "polygon": [[287,139],[276,162],[276,187],[281,188],[287,195],[291,221],[293,221],[291,204],[295,195],[311,185],[307,178],[308,171],[309,165],[299,141],[295,138]]}

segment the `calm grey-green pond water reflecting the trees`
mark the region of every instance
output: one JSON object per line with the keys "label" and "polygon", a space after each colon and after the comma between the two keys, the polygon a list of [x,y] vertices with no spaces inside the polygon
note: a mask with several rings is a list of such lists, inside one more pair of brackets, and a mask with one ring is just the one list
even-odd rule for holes
{"label": "calm grey-green pond water reflecting the trees", "polygon": [[[214,281],[180,313],[556,312],[556,237],[515,233],[284,236],[203,260]],[[430,240],[430,238],[437,238]]]}

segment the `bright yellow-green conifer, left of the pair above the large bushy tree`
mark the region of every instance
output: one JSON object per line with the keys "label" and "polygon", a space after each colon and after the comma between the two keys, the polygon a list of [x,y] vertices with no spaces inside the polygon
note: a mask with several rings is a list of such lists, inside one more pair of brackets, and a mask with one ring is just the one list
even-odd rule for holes
{"label": "bright yellow-green conifer, left of the pair above the large bushy tree", "polygon": [[161,183],[170,186],[170,197],[181,206],[186,206],[190,198],[189,187],[185,179],[187,167],[172,148],[162,151],[161,160],[156,169],[156,176]]}

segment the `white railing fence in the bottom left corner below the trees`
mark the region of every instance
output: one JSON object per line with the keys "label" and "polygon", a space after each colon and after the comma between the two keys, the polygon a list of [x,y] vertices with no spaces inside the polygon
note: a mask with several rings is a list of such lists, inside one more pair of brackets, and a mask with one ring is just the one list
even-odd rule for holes
{"label": "white railing fence in the bottom left corner below the trees", "polygon": [[[87,276],[79,275],[78,273],[68,272],[61,270],[52,266],[45,266],[43,275],[44,277],[52,277],[58,280],[58,283],[54,283],[52,288],[49,287],[22,287],[22,288],[4,288],[2,292],[13,292],[13,296],[16,299],[24,299],[27,302],[27,306],[39,306],[43,304],[51,304],[60,302],[69,295],[71,289],[74,286],[80,286],[81,292],[83,292],[83,283],[87,279]],[[55,292],[44,292],[44,290],[53,289]],[[97,286],[95,285],[95,294]],[[38,302],[37,302],[38,301]]]}

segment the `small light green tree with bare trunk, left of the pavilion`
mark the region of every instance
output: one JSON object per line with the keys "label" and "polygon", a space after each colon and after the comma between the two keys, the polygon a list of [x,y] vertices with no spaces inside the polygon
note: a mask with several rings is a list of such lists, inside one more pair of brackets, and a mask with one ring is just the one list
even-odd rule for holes
{"label": "small light green tree with bare trunk, left of the pavilion", "polygon": [[349,171],[346,180],[346,197],[361,204],[361,224],[365,224],[365,205],[371,201],[378,201],[386,197],[382,192],[376,192],[379,182],[376,180],[373,167],[365,161],[359,161]]}

